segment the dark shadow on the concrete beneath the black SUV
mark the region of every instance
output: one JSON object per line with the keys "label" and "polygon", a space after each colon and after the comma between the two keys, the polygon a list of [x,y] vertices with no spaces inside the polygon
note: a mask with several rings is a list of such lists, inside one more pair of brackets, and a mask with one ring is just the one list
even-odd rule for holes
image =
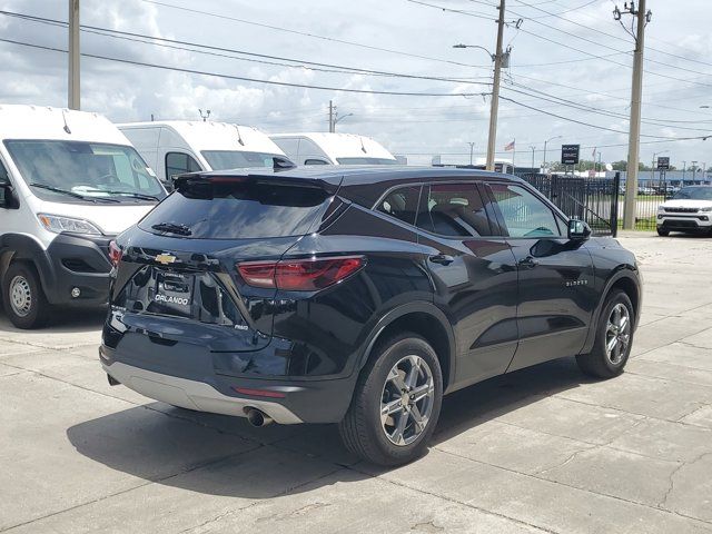
{"label": "dark shadow on the concrete beneath the black SUV", "polygon": [[[586,382],[568,358],[456,392],[444,399],[431,445]],[[313,491],[335,477],[354,481],[384,472],[363,464],[343,469],[358,458],[344,449],[336,425],[254,428],[244,418],[161,403],[80,423],[67,437],[77,452],[110,469],[208,495],[269,498]]]}

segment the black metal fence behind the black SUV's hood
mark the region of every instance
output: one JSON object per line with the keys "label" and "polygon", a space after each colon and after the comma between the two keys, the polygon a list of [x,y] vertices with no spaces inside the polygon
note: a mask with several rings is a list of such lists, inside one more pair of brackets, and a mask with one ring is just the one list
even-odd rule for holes
{"label": "black metal fence behind the black SUV's hood", "polygon": [[568,217],[585,220],[594,235],[615,236],[619,228],[620,179],[521,174]]}

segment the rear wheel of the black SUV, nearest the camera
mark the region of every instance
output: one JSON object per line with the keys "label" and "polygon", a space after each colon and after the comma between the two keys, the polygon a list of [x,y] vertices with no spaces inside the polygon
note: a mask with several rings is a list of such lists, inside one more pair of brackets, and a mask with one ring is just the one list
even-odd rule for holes
{"label": "rear wheel of the black SUV, nearest the camera", "polygon": [[394,466],[419,457],[433,435],[443,399],[437,355],[422,337],[400,334],[379,344],[364,367],[339,424],[352,453]]}

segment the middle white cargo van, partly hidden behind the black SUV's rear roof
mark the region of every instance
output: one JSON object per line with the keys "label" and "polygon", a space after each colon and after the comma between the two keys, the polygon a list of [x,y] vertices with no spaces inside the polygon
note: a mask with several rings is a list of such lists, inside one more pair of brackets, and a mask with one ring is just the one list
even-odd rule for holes
{"label": "middle white cargo van, partly hidden behind the black SUV's rear roof", "polygon": [[117,125],[165,186],[198,170],[273,167],[285,154],[256,128],[227,122],[162,120]]}

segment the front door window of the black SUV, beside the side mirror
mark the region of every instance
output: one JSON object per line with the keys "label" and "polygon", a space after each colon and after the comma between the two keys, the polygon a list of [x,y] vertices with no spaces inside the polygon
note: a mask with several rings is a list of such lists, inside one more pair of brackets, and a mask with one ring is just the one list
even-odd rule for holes
{"label": "front door window of the black SUV, beside the side mirror", "polygon": [[512,237],[561,237],[551,208],[521,186],[491,184],[490,188]]}

